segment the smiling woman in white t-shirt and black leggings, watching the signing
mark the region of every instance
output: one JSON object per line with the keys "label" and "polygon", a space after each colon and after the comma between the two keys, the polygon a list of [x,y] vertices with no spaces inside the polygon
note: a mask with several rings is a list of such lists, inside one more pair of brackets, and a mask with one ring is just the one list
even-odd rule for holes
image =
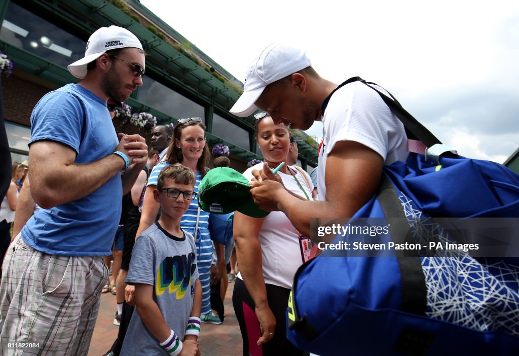
{"label": "smiling woman in white t-shirt and black leggings, watching the signing", "polygon": [[[283,124],[274,124],[266,113],[255,118],[256,141],[270,169],[282,165],[278,172],[280,182],[302,200],[311,199],[310,176],[287,164],[290,130]],[[243,175],[250,180],[252,170],[263,166],[264,163],[258,163]],[[300,238],[289,218],[280,211],[263,218],[235,212],[234,239],[240,273],[234,285],[233,306],[240,324],[243,354],[303,355],[286,339],[285,311],[295,271],[309,256],[309,240]]]}

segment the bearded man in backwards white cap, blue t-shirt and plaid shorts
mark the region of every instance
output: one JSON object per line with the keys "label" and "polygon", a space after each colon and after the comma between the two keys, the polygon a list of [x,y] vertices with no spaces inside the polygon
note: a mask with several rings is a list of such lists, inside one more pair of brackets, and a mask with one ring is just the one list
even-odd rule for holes
{"label": "bearded man in backwards white cap, blue t-shirt and plaid shorts", "polygon": [[43,209],[5,258],[4,354],[21,352],[9,343],[38,354],[87,354],[120,200],[146,164],[144,138],[117,135],[106,107],[108,98],[126,101],[142,85],[139,39],[117,26],[101,28],[69,71],[83,80],[46,94],[31,115],[31,194]]}

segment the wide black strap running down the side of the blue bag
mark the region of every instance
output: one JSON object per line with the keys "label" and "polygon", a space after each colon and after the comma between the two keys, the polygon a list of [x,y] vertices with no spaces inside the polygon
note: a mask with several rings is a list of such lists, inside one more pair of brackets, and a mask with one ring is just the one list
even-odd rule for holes
{"label": "wide black strap running down the side of the blue bag", "polygon": [[[394,243],[413,242],[400,199],[393,183],[386,174],[382,175],[377,191],[377,200],[386,216],[389,232]],[[425,315],[427,309],[427,287],[421,259],[415,250],[396,250],[402,286],[400,310]]]}

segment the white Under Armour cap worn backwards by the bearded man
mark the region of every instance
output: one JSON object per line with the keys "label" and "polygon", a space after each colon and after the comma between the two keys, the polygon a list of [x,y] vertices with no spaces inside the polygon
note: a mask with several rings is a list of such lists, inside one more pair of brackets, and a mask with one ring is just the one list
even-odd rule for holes
{"label": "white Under Armour cap worn backwards by the bearded man", "polygon": [[102,27],[92,33],[87,42],[85,57],[67,67],[76,78],[85,78],[87,64],[98,59],[104,52],[115,48],[135,47],[142,49],[141,42],[130,31],[119,26]]}

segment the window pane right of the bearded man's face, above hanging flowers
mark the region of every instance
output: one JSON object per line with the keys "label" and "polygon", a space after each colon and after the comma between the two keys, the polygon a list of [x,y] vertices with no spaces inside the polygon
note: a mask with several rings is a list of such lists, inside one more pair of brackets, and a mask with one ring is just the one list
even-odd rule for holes
{"label": "window pane right of the bearded man's face, above hanging flowers", "polygon": [[203,106],[148,76],[142,78],[142,81],[143,84],[139,88],[139,101],[141,103],[149,105],[175,119],[199,116],[204,123],[206,122]]}

